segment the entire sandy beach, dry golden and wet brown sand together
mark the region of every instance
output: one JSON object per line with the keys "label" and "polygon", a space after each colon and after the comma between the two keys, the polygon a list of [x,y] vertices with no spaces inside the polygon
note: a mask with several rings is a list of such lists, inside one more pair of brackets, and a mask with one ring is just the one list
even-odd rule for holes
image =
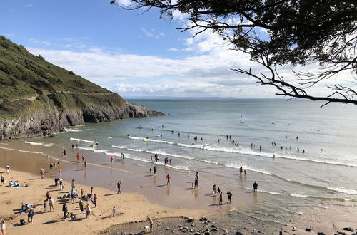
{"label": "entire sandy beach, dry golden and wet brown sand together", "polygon": [[[244,196],[247,196],[244,194],[233,195],[239,198],[241,201],[239,204],[216,206],[217,197],[212,197],[209,193],[211,192],[209,179],[206,179],[206,185],[201,185],[200,189],[191,190],[188,186],[190,182],[187,182],[191,179],[191,175],[170,171],[174,182],[171,187],[166,187],[164,179],[166,169],[160,169],[156,179],[148,172],[142,172],[142,167],[129,164],[121,165],[120,168],[113,168],[108,164],[89,164],[87,169],[83,169],[81,164],[76,163],[73,158],[73,156],[46,158],[46,155],[34,152],[19,152],[4,148],[0,150],[1,167],[5,167],[6,164],[11,166],[10,174],[5,173],[4,167],[0,168],[6,181],[18,180],[21,185],[24,182],[30,184],[30,187],[21,188],[0,187],[0,219],[6,221],[8,234],[49,234],[49,231],[51,234],[115,234],[117,231],[135,234],[143,231],[144,226],[149,224],[146,222],[146,216],[154,219],[154,229],[156,229],[154,234],[182,233],[177,224],[191,225],[184,224],[185,220],[182,217],[194,217],[196,226],[200,227],[201,231],[205,231],[210,225],[199,221],[202,216],[216,221],[216,225],[221,228],[218,234],[225,234],[223,228],[228,231],[227,234],[236,234],[236,231],[241,231],[243,234],[256,234],[258,231],[261,231],[261,234],[278,234],[281,228],[284,234],[311,234],[306,231],[306,227],[311,228],[313,234],[317,232],[336,234],[337,231],[343,231],[343,227],[351,226],[353,230],[357,228],[356,213],[348,208],[346,210],[306,208],[303,214],[293,220],[285,218],[279,223],[271,223],[258,220],[241,209],[250,203],[245,200]],[[57,163],[58,161],[60,164],[54,168],[54,171],[46,172],[45,178],[41,179],[39,169],[44,167],[46,171],[49,171],[49,162]],[[67,182],[64,182],[64,191],[59,191],[59,187],[53,186],[54,177],[58,176],[59,169],[62,170],[62,177],[67,179]],[[165,172],[162,172],[163,170]],[[138,173],[140,171],[141,174]],[[121,188],[124,193],[116,194],[115,182],[123,178],[126,178],[124,187]],[[63,196],[65,192],[69,192],[71,179],[76,181],[77,192],[83,188],[88,194],[93,186],[94,193],[99,197],[96,208],[90,203],[93,212],[90,219],[85,219],[85,214],[79,214],[78,203],[71,204],[70,199],[56,199],[58,196]],[[43,211],[42,204],[46,199],[47,190],[55,199],[55,212]],[[78,221],[62,221],[61,208],[64,202],[69,202],[69,212],[77,214]],[[34,224],[19,226],[20,219],[27,221],[27,214],[19,214],[21,203],[37,206],[34,209]],[[113,206],[117,208],[117,216],[114,218],[111,217]],[[49,210],[49,205],[47,205],[47,210]],[[141,223],[136,223],[138,221]],[[168,224],[165,224],[165,221],[168,221]],[[161,227],[158,228],[160,224]],[[169,230],[166,230],[166,226]],[[353,234],[349,231],[343,232]]]}

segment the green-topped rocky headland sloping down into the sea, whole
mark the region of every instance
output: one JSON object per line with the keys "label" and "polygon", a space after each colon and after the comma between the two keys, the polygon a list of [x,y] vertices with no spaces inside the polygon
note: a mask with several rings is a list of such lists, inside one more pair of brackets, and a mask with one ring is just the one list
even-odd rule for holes
{"label": "green-topped rocky headland sloping down into the sea, whole", "polygon": [[164,113],[128,103],[0,36],[0,140],[54,135],[85,122],[156,115]]}

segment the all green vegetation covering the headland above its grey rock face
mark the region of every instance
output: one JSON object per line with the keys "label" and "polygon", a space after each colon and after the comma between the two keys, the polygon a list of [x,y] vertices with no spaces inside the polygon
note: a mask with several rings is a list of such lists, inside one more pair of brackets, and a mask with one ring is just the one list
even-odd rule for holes
{"label": "all green vegetation covering the headland above its grey rock face", "polygon": [[39,108],[123,107],[125,100],[0,36],[0,117]]}

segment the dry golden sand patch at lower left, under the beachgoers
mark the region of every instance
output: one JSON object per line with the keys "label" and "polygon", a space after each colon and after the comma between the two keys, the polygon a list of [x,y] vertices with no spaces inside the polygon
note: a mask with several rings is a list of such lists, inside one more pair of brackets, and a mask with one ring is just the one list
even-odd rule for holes
{"label": "dry golden sand patch at lower left, under the beachgoers", "polygon": [[[16,156],[14,156],[16,157]],[[71,183],[64,182],[65,190],[59,191],[59,187],[54,187],[54,180],[45,177],[41,179],[39,175],[19,172],[11,169],[10,174],[6,174],[4,168],[0,168],[7,182],[18,180],[19,184],[24,182],[29,187],[11,188],[0,187],[0,219],[6,222],[8,234],[97,234],[102,229],[107,229],[114,224],[128,223],[131,221],[144,221],[146,216],[151,216],[154,220],[166,217],[193,216],[198,217],[206,213],[206,210],[199,209],[171,209],[169,207],[152,204],[137,193],[122,193],[109,191],[101,187],[95,187],[94,193],[98,196],[98,205],[94,208],[91,202],[92,215],[90,219],[85,219],[86,214],[80,214],[79,204],[70,202],[70,199],[56,199],[65,192],[69,192]],[[90,187],[76,184],[76,188],[90,192]],[[49,190],[55,199],[54,212],[44,212],[44,199],[46,191]],[[67,202],[69,212],[74,212],[77,221],[63,221],[62,204]],[[79,202],[76,199],[76,202]],[[20,214],[21,203],[36,205],[34,209],[34,223],[19,225],[20,219],[27,221],[27,214]],[[111,217],[113,206],[116,206],[117,216]]]}

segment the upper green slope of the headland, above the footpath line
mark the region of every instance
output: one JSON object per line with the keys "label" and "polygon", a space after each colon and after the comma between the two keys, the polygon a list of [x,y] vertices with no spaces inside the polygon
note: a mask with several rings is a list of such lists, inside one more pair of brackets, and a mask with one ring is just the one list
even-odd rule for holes
{"label": "upper green slope of the headland, above the footpath line", "polygon": [[110,93],[72,71],[54,66],[42,56],[0,36],[0,99],[26,98],[53,91]]}

